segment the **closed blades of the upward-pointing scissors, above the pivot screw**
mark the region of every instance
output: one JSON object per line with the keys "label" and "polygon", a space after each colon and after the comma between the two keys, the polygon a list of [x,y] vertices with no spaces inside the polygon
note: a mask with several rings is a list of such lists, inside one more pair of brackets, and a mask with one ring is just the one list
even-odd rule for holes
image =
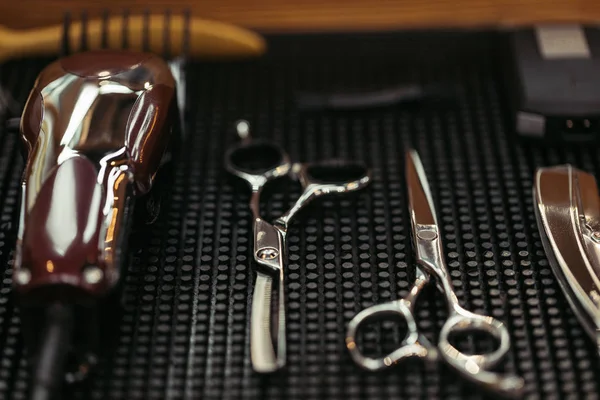
{"label": "closed blades of the upward-pointing scissors, above the pivot screw", "polygon": [[437,225],[435,208],[425,169],[415,150],[406,152],[406,183],[408,185],[408,209],[413,231],[419,225]]}

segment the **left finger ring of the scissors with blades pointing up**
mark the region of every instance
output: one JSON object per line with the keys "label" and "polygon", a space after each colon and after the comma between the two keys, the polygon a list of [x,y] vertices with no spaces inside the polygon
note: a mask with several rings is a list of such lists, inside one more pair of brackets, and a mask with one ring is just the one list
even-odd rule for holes
{"label": "left finger ring of the scissors with blades pointing up", "polygon": [[[365,356],[356,342],[361,326],[369,322],[380,321],[390,317],[403,317],[407,324],[407,334],[400,347],[390,354],[372,358]],[[369,371],[379,371],[390,367],[406,358],[435,358],[436,351],[427,339],[419,334],[417,324],[409,308],[409,303],[402,299],[369,307],[358,313],[348,324],[346,347],[354,362]]]}

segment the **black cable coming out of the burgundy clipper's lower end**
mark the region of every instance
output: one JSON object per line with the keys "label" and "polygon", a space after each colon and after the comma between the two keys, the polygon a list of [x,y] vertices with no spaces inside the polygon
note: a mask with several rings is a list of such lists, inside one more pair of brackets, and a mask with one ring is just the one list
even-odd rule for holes
{"label": "black cable coming out of the burgundy clipper's lower end", "polygon": [[30,400],[54,400],[60,398],[65,364],[70,349],[73,312],[64,304],[52,304],[46,309],[45,329],[41,345],[33,365],[30,384]]}

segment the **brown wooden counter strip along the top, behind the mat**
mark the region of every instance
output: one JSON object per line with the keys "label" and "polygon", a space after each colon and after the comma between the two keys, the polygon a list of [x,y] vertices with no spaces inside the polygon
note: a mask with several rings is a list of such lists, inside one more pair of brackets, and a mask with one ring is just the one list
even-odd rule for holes
{"label": "brown wooden counter strip along the top, behind the mat", "polygon": [[[87,3],[87,4],[85,4]],[[480,27],[600,20],[598,0],[5,0],[0,24],[12,28],[60,22],[65,10],[132,12],[188,7],[194,16],[264,32],[360,31],[416,27]]]}

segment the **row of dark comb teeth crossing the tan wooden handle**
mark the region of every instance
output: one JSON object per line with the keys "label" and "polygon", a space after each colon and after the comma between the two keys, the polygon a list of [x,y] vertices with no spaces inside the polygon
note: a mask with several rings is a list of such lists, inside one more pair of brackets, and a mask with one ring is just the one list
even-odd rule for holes
{"label": "row of dark comb teeth crossing the tan wooden handle", "polygon": [[[190,50],[190,24],[191,24],[191,16],[189,9],[183,11],[183,26],[175,27],[172,23],[172,11],[167,9],[164,12],[163,24],[164,29],[162,30],[162,51],[160,52],[161,56],[166,59],[170,59],[174,52],[173,46],[179,47],[172,43],[172,29],[182,29],[182,42],[181,42],[181,55],[182,58],[187,58]],[[116,15],[118,17],[118,14]],[[115,19],[111,18],[111,13],[104,9],[99,19],[90,18],[88,12],[83,10],[79,14],[79,21],[77,18],[73,18],[70,12],[66,12],[63,19],[63,32],[62,32],[62,42],[61,42],[61,56],[67,56],[72,53],[83,52],[90,49],[115,49],[116,38],[112,37],[111,40],[111,32],[113,34],[119,35],[118,30],[115,31]],[[112,14],[112,17],[115,17],[115,14]],[[120,28],[120,43],[117,44],[121,49],[132,49],[132,50],[141,50],[141,51],[154,51],[152,46],[156,47],[156,39],[154,41],[151,40],[152,33],[152,21],[156,22],[156,17],[151,17],[150,10],[145,10],[141,15],[137,15],[135,18],[141,18],[141,40],[140,37],[136,35],[137,40],[134,40],[131,35],[131,18],[132,15],[129,9],[124,9],[121,13],[121,28]],[[139,21],[139,20],[138,20]],[[74,28],[74,25],[80,22],[81,28]],[[100,25],[100,29],[98,30],[98,24]],[[92,28],[95,26],[96,28]],[[137,26],[137,25],[136,25]],[[137,28],[136,28],[137,29]],[[77,37],[78,33],[79,37]],[[133,32],[135,33],[135,32]],[[154,30],[156,33],[156,29]],[[93,35],[93,36],[92,36]],[[100,37],[98,37],[98,35]],[[160,43],[160,42],[159,42]]]}

